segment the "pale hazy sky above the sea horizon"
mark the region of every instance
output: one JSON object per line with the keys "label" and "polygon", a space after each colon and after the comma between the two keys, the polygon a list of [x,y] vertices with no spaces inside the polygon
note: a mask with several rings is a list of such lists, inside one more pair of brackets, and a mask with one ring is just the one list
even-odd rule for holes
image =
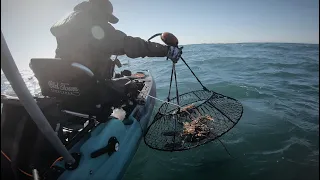
{"label": "pale hazy sky above the sea horizon", "polygon": [[[1,0],[1,30],[19,67],[53,57],[50,27],[80,0]],[[319,43],[318,0],[111,0],[115,28],[147,39],[169,31],[181,44]]]}

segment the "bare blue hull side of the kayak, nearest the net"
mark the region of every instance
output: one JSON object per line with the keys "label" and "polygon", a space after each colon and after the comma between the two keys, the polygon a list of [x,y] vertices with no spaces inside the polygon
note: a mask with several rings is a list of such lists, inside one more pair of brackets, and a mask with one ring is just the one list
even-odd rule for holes
{"label": "bare blue hull side of the kayak, nearest the net", "polygon": [[[155,82],[151,74],[146,74],[149,86],[144,88],[143,94],[141,93],[146,103],[137,105],[128,117],[133,123],[125,125],[118,119],[111,119],[100,124],[89,137],[82,139],[70,150],[81,153],[79,166],[75,170],[63,172],[59,180],[118,180],[123,177],[147,129],[155,104],[154,99],[145,95],[156,96]],[[91,153],[105,147],[111,137],[116,137],[119,141],[119,150],[111,156],[103,154],[91,158]],[[64,162],[56,165],[64,167]]]}

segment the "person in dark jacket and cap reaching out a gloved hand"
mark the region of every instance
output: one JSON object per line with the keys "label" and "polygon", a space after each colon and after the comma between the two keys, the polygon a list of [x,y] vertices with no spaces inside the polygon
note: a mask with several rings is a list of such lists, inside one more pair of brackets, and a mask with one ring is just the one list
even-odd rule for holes
{"label": "person in dark jacket and cap reaching out a gloved hand", "polygon": [[110,23],[119,20],[113,14],[109,0],[89,0],[74,7],[66,18],[51,27],[57,39],[56,58],[79,62],[96,75],[111,78],[111,55],[138,57],[168,57],[177,61],[181,50],[159,43],[147,42],[116,30]]}

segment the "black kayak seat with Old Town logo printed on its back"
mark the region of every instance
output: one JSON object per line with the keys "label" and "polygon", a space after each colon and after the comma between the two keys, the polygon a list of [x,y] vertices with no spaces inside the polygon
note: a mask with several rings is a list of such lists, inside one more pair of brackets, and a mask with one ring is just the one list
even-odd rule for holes
{"label": "black kayak seat with Old Town logo printed on its back", "polygon": [[79,63],[34,58],[30,68],[39,81],[42,95],[59,100],[64,110],[108,117],[113,104],[121,98],[116,90],[99,82],[89,68]]}

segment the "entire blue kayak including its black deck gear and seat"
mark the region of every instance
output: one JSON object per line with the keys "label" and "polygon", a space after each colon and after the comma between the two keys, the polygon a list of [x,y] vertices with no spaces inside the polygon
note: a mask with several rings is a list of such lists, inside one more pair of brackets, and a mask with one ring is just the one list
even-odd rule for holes
{"label": "entire blue kayak including its black deck gear and seat", "polygon": [[[119,78],[114,79],[137,85],[135,88],[138,93],[129,93],[129,98],[118,96],[117,93],[111,94],[114,90],[105,90],[108,97],[103,97],[104,100],[110,100],[109,97],[112,97],[110,102],[118,100],[117,108],[126,112],[124,119],[118,119],[111,116],[109,111],[104,111],[111,106],[93,102],[92,99],[100,102],[103,98],[93,94],[92,89],[96,90],[93,84],[98,81],[86,81],[86,78],[93,79],[94,75],[85,66],[73,63],[71,66],[76,70],[71,73],[71,66],[66,67],[68,63],[62,61],[31,61],[42,91],[42,96],[34,97],[34,100],[75,163],[68,164],[60,157],[17,97],[1,95],[1,171],[5,172],[1,176],[4,179],[30,179],[34,176],[32,170],[36,169],[40,179],[121,179],[146,132],[154,108],[155,100],[149,97],[156,96],[156,85],[151,73],[141,71],[130,73],[129,76],[118,75]],[[59,71],[55,72],[55,68]],[[78,78],[82,77],[83,82],[66,83],[74,80],[74,75],[65,76],[66,71],[68,74],[78,73]],[[81,98],[86,98],[87,103],[81,103]],[[93,104],[96,105],[93,107]],[[12,168],[12,164],[16,168]]]}

